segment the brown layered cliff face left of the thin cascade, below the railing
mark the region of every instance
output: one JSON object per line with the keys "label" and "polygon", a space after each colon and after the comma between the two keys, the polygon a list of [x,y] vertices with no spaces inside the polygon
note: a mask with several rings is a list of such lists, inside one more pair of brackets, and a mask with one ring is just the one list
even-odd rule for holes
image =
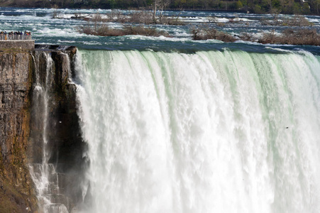
{"label": "brown layered cliff face left of the thin cascade, below the railing", "polygon": [[33,212],[35,190],[28,171],[31,54],[0,52],[0,212]]}

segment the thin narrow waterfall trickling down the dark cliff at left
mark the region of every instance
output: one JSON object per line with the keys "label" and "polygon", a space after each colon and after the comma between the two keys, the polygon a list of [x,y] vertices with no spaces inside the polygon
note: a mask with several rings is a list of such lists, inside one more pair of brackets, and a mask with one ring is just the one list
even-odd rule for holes
{"label": "thin narrow waterfall trickling down the dark cliff at left", "polygon": [[35,131],[33,138],[37,141],[40,155],[35,163],[29,164],[29,168],[37,190],[40,212],[67,213],[65,205],[60,203],[65,198],[59,192],[59,175],[55,171],[55,165],[49,163],[51,152],[47,133],[50,126],[48,104],[50,104],[54,62],[50,53],[45,51],[35,51],[33,60],[35,80],[33,82],[32,118],[33,125],[36,126],[33,128]]}

